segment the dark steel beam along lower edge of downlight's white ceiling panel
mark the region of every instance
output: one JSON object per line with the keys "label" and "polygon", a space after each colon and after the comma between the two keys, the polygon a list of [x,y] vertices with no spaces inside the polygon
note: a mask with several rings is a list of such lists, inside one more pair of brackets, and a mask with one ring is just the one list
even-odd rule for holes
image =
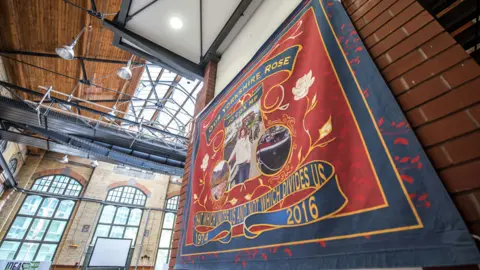
{"label": "dark steel beam along lower edge of downlight's white ceiling panel", "polygon": [[198,79],[203,78],[204,68],[202,66],[159,46],[158,44],[126,29],[118,23],[104,20],[103,25],[110,29],[115,35],[127,39],[148,54],[160,59],[162,62],[172,67],[174,69],[172,71],[176,71],[182,75],[187,74],[186,77],[195,77]]}

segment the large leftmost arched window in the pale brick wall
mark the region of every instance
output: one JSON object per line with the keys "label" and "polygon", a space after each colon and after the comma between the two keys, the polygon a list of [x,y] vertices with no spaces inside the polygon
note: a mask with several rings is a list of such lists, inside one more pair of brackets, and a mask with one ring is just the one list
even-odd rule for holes
{"label": "large leftmost arched window in the pale brick wall", "polygon": [[0,260],[51,261],[75,206],[55,195],[78,196],[82,185],[68,176],[50,175],[35,180],[31,189],[45,196],[25,198],[2,241]]}

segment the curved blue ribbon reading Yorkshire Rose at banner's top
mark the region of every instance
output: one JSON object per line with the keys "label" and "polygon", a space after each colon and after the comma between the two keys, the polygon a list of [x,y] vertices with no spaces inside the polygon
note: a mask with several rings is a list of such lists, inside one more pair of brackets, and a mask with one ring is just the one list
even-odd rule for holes
{"label": "curved blue ribbon reading Yorkshire Rose at banner's top", "polygon": [[223,104],[218,114],[213,119],[212,123],[207,127],[207,141],[210,141],[210,136],[213,131],[225,117],[227,112],[233,108],[237,101],[248,91],[262,82],[265,78],[280,71],[291,71],[295,64],[298,52],[301,46],[295,45],[285,51],[275,55],[269,60],[265,61],[261,66],[255,69],[249,77],[247,77],[242,84],[238,85],[235,93]]}

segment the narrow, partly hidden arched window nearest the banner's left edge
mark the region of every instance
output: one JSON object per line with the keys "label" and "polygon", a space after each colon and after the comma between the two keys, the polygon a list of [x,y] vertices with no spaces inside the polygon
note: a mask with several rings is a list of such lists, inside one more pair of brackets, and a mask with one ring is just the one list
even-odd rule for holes
{"label": "narrow, partly hidden arched window nearest the banner's left edge", "polygon": [[[180,196],[174,196],[167,200],[166,208],[169,210],[178,209],[178,201]],[[163,269],[163,265],[170,261],[170,252],[172,251],[173,228],[175,227],[175,213],[165,213],[163,218],[162,232],[160,234],[160,242],[158,244],[157,261],[155,269]]]}

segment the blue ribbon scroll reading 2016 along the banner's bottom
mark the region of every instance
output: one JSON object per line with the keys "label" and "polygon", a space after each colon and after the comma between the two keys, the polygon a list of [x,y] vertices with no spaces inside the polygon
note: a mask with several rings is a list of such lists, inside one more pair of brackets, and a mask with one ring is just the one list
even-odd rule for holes
{"label": "blue ribbon scroll reading 2016 along the banner's bottom", "polygon": [[[302,199],[282,208],[284,200],[298,192]],[[228,243],[232,227],[242,223],[244,235],[250,239],[270,230],[311,224],[341,211],[347,202],[333,165],[327,161],[312,161],[248,203],[223,211],[195,214],[193,242],[196,246],[210,241]],[[268,211],[278,205],[279,210]]]}

